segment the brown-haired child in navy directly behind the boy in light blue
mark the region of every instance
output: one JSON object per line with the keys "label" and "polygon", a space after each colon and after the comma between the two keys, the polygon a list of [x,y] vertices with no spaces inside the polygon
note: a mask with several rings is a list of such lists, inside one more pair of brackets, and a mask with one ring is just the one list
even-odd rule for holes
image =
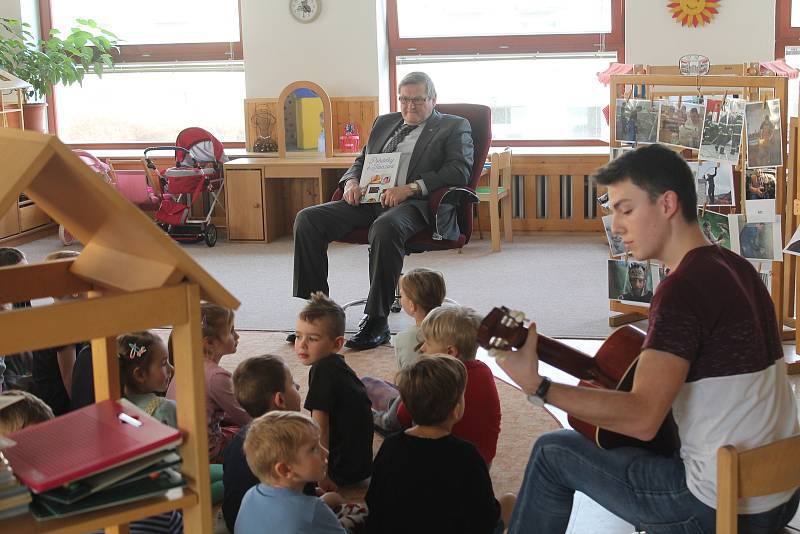
{"label": "brown-haired child in navy directly behind the boy in light blue", "polygon": [[[233,372],[233,392],[239,405],[256,418],[273,410],[300,411],[299,387],[289,367],[278,356],[248,358]],[[225,449],[222,481],[225,497],[222,515],[228,530],[233,532],[242,498],[258,484],[244,456],[244,439],[249,426],[243,426]],[[311,486],[314,495],[314,485]]]}

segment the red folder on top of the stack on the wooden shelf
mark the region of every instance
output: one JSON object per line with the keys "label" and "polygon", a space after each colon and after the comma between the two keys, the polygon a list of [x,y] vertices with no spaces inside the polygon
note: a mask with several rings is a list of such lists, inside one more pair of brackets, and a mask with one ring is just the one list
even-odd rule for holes
{"label": "red folder on top of the stack on the wooden shelf", "polygon": [[125,399],[102,401],[8,436],[3,453],[34,493],[94,475],[181,441],[178,429]]}

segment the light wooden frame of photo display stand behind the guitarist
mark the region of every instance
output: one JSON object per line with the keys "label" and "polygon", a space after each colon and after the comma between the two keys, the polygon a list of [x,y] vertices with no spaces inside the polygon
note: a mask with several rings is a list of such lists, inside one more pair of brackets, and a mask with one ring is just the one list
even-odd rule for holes
{"label": "light wooden frame of photo display stand behind the guitarist", "polygon": [[[748,102],[766,100],[780,101],[781,147],[783,150],[783,166],[777,167],[775,183],[775,214],[781,217],[781,230],[784,242],[792,235],[796,224],[794,210],[787,209],[787,199],[794,199],[796,186],[794,180],[787,181],[786,176],[786,139],[788,131],[788,80],[782,76],[760,75],[758,63],[744,63],[737,65],[712,65],[709,74],[703,76],[683,76],[679,74],[678,67],[671,66],[644,66],[637,65],[632,74],[611,75],[609,83],[609,145],[612,149],[630,144],[616,141],[616,113],[617,99],[642,99],[658,101],[659,98],[668,96],[697,96],[697,95],[727,95],[737,96]],[[734,180],[735,205],[722,208],[723,213],[745,213],[744,195],[746,180],[746,129],[741,137],[741,147],[738,162],[733,164],[734,173],[738,179]],[[669,145],[667,145],[669,146]],[[698,150],[673,147],[687,160],[698,160]],[[793,161],[793,160],[792,160]],[[796,168],[796,165],[794,166]],[[798,202],[800,205],[800,202]],[[715,208],[717,211],[718,208]],[[800,212],[800,209],[798,209]],[[783,339],[795,339],[794,304],[796,301],[794,278],[795,262],[789,255],[784,254],[784,262],[772,261],[772,278],[770,294],[779,324],[783,326]],[[609,308],[615,315],[609,317],[610,326],[638,321],[647,318],[647,310],[625,304],[616,300],[609,301]],[[798,341],[800,346],[800,340]],[[800,369],[797,369],[800,372]]]}

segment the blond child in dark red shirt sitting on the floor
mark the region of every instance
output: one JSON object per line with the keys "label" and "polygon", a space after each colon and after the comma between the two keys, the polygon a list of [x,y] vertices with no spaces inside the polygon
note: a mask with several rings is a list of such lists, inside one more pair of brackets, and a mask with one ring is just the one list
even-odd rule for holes
{"label": "blond child in dark red shirt sitting on the floor", "polygon": [[[491,369],[475,359],[480,324],[481,316],[472,308],[441,306],[431,310],[422,321],[421,350],[424,354],[448,354],[466,366],[464,417],[453,426],[453,435],[475,445],[486,465],[491,467],[500,436],[500,397]],[[397,419],[402,427],[410,427],[412,418],[401,403]]]}

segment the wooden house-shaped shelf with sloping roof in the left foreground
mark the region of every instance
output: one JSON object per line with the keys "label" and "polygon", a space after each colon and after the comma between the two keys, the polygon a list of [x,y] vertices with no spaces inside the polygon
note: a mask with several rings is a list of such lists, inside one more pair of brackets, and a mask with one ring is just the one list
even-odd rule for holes
{"label": "wooden house-shaped shelf with sloping roof in the left foreground", "polygon": [[[0,130],[0,213],[24,191],[82,243],[77,259],[0,268],[0,302],[86,293],[88,298],[0,313],[0,354],[91,340],[97,401],[120,390],[117,334],[173,326],[179,448],[187,486],[167,496],[74,517],[0,520],[0,532],[128,531],[127,523],[183,509],[184,530],[213,531],[200,299],[236,300],[169,236],[54,136]],[[54,444],[54,448],[68,444]]]}

